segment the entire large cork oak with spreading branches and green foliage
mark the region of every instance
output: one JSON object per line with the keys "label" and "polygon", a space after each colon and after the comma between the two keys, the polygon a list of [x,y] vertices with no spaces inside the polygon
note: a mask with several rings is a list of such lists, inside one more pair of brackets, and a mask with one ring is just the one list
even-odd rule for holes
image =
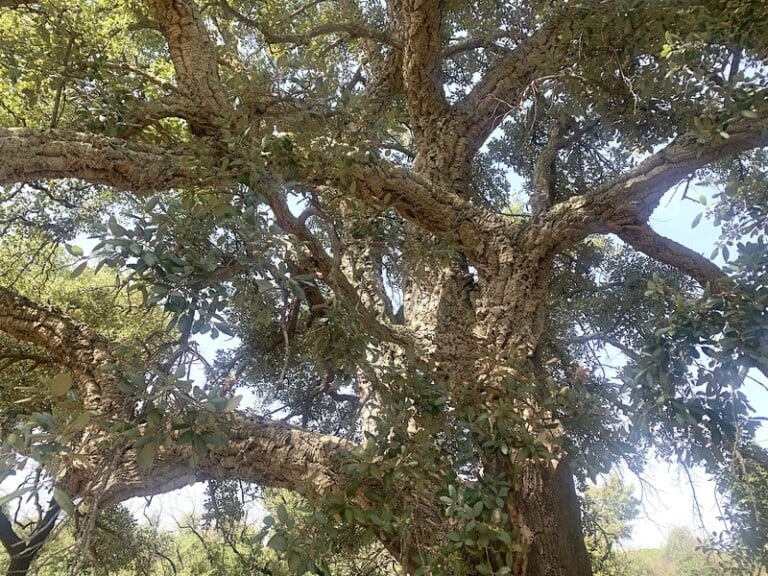
{"label": "entire large cork oak with spreading branches and green foliage", "polygon": [[[0,1],[6,472],[39,464],[86,550],[100,509],[240,480],[409,574],[590,574],[577,485],[652,448],[764,523],[767,25],[763,0]],[[649,225],[700,185],[711,256]]]}

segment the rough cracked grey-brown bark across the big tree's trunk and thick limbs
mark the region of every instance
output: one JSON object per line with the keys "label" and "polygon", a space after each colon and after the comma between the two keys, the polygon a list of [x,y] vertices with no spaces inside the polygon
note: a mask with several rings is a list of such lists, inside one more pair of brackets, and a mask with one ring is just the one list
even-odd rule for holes
{"label": "rough cracked grey-brown bark across the big tree's trunk and thick limbs", "polygon": [[[502,56],[479,74],[465,94],[453,95],[451,100],[446,96],[446,59],[493,44],[494,39],[460,38],[451,44],[446,32],[450,2],[388,0],[388,29],[374,32],[359,6],[345,0],[341,3],[344,22],[279,35],[223,3],[228,17],[260,32],[259,42],[304,46],[340,34],[342,43],[359,40],[366,55],[361,67],[369,76],[365,87],[349,96],[357,116],[338,121],[341,144],[330,129],[313,134],[301,144],[300,161],[292,158],[295,165],[283,166],[266,146],[261,148],[261,137],[266,142],[281,122],[289,124],[291,113],[302,110],[302,99],[269,96],[275,102],[288,102],[280,108],[289,111],[285,117],[264,119],[269,114],[266,110],[245,110],[239,98],[245,100],[246,95],[233,93],[234,83],[222,79],[219,52],[223,48],[212,37],[202,4],[192,0],[146,4],[167,44],[175,72],[173,94],[133,110],[138,126],[123,138],[64,129],[3,129],[0,185],[73,178],[141,197],[179,189],[224,190],[236,182],[248,182],[270,206],[277,226],[291,235],[303,255],[302,268],[322,280],[349,314],[365,319],[368,336],[388,347],[393,356],[404,357],[408,352],[434,363],[438,371],[434,378],[448,381],[455,398],[485,393],[482,408],[489,413],[508,406],[503,381],[511,366],[519,367],[523,377],[535,372],[533,356],[544,330],[552,263],[588,235],[614,233],[702,284],[725,278],[711,262],[653,233],[648,218],[666,191],[699,168],[768,145],[768,110],[730,122],[727,139],[702,141],[683,127],[666,146],[636,166],[560,202],[554,201],[551,190],[556,154],[574,139],[559,140],[561,126],[554,124],[535,166],[532,218],[507,217],[473,200],[472,168],[483,144],[530,97],[532,86],[563,74],[580,57],[580,45],[566,34],[571,32],[569,7],[516,32],[512,31],[515,23],[504,23],[510,31],[494,39],[506,36],[511,47],[501,51]],[[271,88],[248,86],[264,93]],[[387,114],[412,133],[412,161],[390,162],[366,150],[379,144],[376,126]],[[238,159],[245,157],[258,167],[258,178],[245,169],[224,174],[215,168],[233,154],[226,142],[243,115],[248,116],[248,130],[255,127],[251,139],[255,132],[264,131],[250,150],[236,151]],[[149,145],[136,137],[161,118],[186,120],[190,133],[185,145]],[[347,144],[357,147],[355,153]],[[306,219],[292,214],[279,193],[277,183],[285,181],[286,174],[295,180],[296,190],[311,190],[327,209],[337,209],[341,196],[349,200],[342,203],[346,210],[359,211],[355,218],[373,220],[382,211],[394,211],[404,222],[408,242],[442,249],[433,255],[409,250],[408,242],[400,247],[402,319],[395,318],[389,302],[382,255],[375,244],[350,239],[347,222],[347,234],[331,246],[324,245]],[[339,212],[343,217],[343,210]],[[119,391],[116,376],[102,370],[114,360],[110,343],[87,326],[0,287],[0,330],[46,349],[69,369],[84,408],[106,418],[138,413],[135,400]],[[383,386],[375,388],[386,366],[369,360],[370,371],[360,372],[358,384],[364,404],[362,427],[373,433],[373,417],[383,413],[373,403],[381,403],[381,392],[386,392]],[[418,417],[414,420],[417,428]],[[354,447],[352,442],[246,414],[234,415],[226,424],[229,446],[212,450],[194,470],[188,466],[188,448],[162,447],[147,471],[137,467],[130,449],[118,443],[105,450],[86,431],[75,447],[84,457],[62,482],[75,496],[82,496],[95,481],[103,480],[102,503],[159,494],[211,478],[303,488],[317,497],[346,488],[349,479],[341,462],[345,451]],[[524,545],[522,553],[515,548],[512,566],[494,568],[499,573],[510,573],[502,572],[506,568],[530,576],[588,575],[567,457],[555,450],[551,460],[526,462],[522,469],[514,465],[513,456],[483,454],[481,458],[484,468],[515,478],[509,527],[520,535],[515,544]],[[101,477],[98,471],[105,469],[109,476]],[[405,491],[401,495],[406,500],[412,496]],[[444,535],[434,524],[440,504],[430,500],[433,496],[413,496],[420,505],[431,506],[430,514],[412,519],[412,533],[423,540],[403,543],[382,535],[408,569],[416,566],[417,542],[428,546]],[[467,566],[464,574],[475,570]]]}

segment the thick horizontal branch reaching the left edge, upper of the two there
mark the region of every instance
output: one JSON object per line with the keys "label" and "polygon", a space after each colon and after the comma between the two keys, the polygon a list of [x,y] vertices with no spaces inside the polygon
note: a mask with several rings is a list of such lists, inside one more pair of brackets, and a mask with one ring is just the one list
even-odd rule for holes
{"label": "thick horizontal branch reaching the left edge, upper of the two there", "polygon": [[194,185],[191,163],[162,148],[62,130],[0,130],[0,185],[78,178],[118,190]]}

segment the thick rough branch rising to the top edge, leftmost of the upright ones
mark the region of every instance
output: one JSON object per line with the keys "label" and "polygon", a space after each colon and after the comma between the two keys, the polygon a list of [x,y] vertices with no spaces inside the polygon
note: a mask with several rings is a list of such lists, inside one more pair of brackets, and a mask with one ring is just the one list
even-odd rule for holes
{"label": "thick rough branch rising to the top edge, leftmost of the upright ones", "polygon": [[180,88],[205,117],[205,125],[193,127],[210,131],[226,115],[229,103],[200,11],[191,0],[149,0],[147,5],[168,42]]}

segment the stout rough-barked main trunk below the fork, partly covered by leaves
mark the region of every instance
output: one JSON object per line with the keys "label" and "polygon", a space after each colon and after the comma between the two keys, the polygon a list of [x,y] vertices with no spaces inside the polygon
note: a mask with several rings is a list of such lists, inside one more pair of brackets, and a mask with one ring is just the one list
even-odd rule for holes
{"label": "stout rough-barked main trunk below the fork, partly covered by leaves", "polygon": [[[406,294],[406,322],[417,333],[432,330],[432,338],[425,340],[431,343],[429,352],[438,360],[441,373],[451,380],[452,401],[457,405],[488,412],[489,422],[494,420],[494,414],[528,410],[530,398],[518,399],[525,400],[519,402],[509,397],[504,381],[511,368],[505,368],[504,364],[522,363],[521,374],[516,375],[516,379],[525,380],[522,373],[528,371],[532,362],[526,356],[534,348],[529,343],[536,341],[541,329],[540,302],[546,292],[542,289],[546,286],[546,271],[537,271],[535,279],[528,278],[527,286],[507,271],[497,284],[503,284],[503,289],[494,290],[487,282],[474,286],[466,267],[454,264],[451,268],[412,279]],[[514,293],[516,288],[520,290]],[[486,326],[484,317],[479,321],[475,299],[485,310],[497,314],[491,327]],[[480,326],[473,328],[472,320]],[[490,343],[490,347],[484,348],[483,342]],[[497,350],[496,360],[491,360],[494,354],[489,353],[493,349]],[[504,360],[511,357],[516,360]],[[534,434],[540,424],[535,419],[541,417],[541,414],[530,416],[530,429]],[[482,447],[483,439],[491,437],[494,428],[495,423],[489,423],[475,443],[484,473],[514,487],[507,500],[507,514],[501,516],[509,518],[508,526],[502,527],[518,536],[508,549],[492,550],[496,554],[489,555],[495,556],[489,563],[491,569],[495,574],[516,576],[590,576],[592,569],[584,544],[581,509],[567,457],[555,447],[551,460],[532,456],[520,465],[511,450],[509,454],[502,454],[496,448],[486,451]],[[461,527],[456,529],[460,531]],[[420,528],[415,531],[423,532]],[[425,550],[417,549],[415,553],[425,553]],[[403,564],[418,565],[418,561]],[[480,564],[483,563],[478,563],[476,556],[468,554],[463,574],[487,574],[485,568],[478,569]]]}

